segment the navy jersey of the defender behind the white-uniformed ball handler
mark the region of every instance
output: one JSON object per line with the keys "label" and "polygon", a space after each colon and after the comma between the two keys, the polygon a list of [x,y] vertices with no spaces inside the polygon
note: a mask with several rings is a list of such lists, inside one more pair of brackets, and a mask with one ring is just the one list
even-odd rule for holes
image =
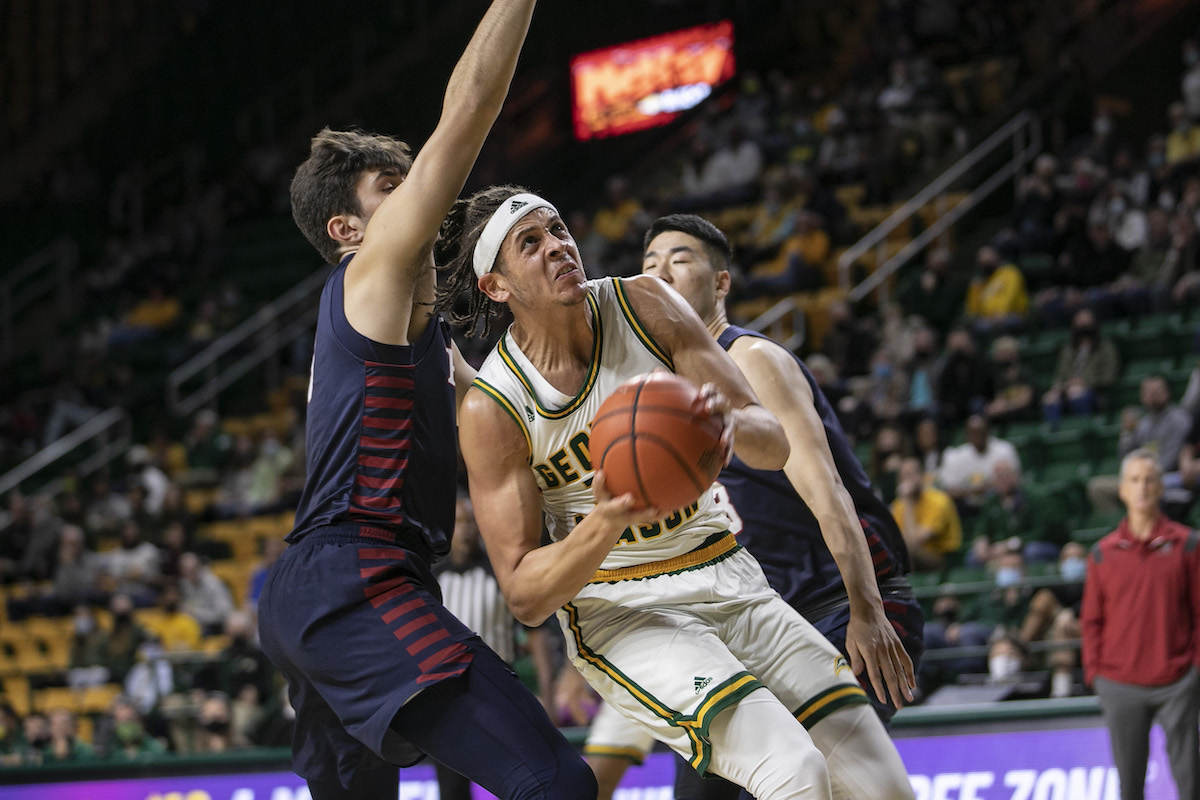
{"label": "navy jersey of the defender behind the white-uniformed ball handler", "polygon": [[[761,333],[731,325],[718,338],[726,350],[743,336],[769,339]],[[776,347],[781,347],[778,345]],[[841,482],[850,492],[863,525],[863,535],[878,581],[908,572],[908,551],[892,512],[871,489],[871,481],[858,463],[838,415],[804,362],[796,359],[812,390],[812,401],[824,425]],[[770,585],[794,608],[821,603],[836,593],[845,594],[838,564],[821,536],[821,525],[782,470],[746,467],[737,456],[716,479],[728,491],[742,518],[738,541],[762,565]]]}

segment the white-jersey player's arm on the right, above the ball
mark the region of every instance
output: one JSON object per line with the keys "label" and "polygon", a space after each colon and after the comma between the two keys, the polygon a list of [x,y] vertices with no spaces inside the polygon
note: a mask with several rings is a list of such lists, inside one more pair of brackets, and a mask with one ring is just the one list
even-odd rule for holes
{"label": "white-jersey player's arm on the right, above the ball", "polygon": [[755,469],[782,469],[790,452],[782,426],[696,312],[658,278],[638,276],[623,284],[650,337],[671,354],[676,373],[697,385],[713,384],[728,399],[738,458]]}

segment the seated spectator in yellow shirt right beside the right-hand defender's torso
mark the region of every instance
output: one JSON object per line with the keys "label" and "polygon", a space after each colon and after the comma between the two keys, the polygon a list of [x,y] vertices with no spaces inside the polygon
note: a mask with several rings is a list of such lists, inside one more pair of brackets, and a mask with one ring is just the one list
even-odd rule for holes
{"label": "seated spectator in yellow shirt right beside the right-hand defender's torso", "polygon": [[920,462],[900,462],[896,499],[892,516],[900,525],[908,557],[917,570],[941,570],[948,557],[962,548],[962,523],[954,501],[941,489],[925,483]]}

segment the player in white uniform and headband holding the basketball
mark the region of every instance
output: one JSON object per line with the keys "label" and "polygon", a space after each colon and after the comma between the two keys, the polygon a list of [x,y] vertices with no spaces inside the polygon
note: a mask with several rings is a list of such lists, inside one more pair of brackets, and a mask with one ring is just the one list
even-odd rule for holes
{"label": "player in white uniform and headband holding the basketball", "polygon": [[[640,510],[593,469],[600,403],[655,368],[709,384],[709,410],[742,461],[786,462],[778,420],[696,313],[656,278],[588,282],[558,212],[517,187],[460,200],[436,255],[440,305],[467,294],[455,321],[486,332],[502,306],[512,313],[463,399],[460,441],[516,618],[557,613],[588,682],[701,774],[758,800],[911,799],[907,781],[890,780],[904,766],[845,657],[768,587],[716,493]],[[552,543],[540,546],[544,521]],[[827,758],[846,747],[857,758],[830,775]]]}

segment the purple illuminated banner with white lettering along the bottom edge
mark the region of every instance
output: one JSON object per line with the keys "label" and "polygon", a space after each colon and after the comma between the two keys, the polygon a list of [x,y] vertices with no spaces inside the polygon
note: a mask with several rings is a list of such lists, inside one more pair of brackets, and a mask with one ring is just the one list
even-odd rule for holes
{"label": "purple illuminated banner with white lettering along the bottom edge", "polygon": [[[914,736],[896,740],[917,800],[1118,800],[1104,728]],[[652,753],[614,800],[672,800],[674,760]],[[310,800],[290,772],[0,786],[4,800]],[[398,800],[438,800],[433,770],[401,772]],[[491,794],[476,787],[475,798]],[[1160,728],[1151,734],[1147,800],[1177,800]]]}

